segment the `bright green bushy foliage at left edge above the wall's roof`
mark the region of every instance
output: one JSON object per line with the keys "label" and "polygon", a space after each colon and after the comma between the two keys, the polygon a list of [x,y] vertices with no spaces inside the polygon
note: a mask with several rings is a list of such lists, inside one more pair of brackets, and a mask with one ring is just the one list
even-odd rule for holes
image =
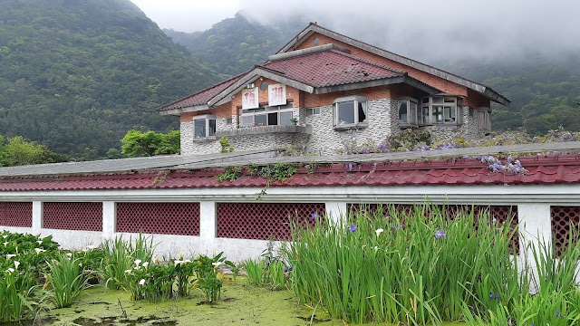
{"label": "bright green bushy foliage at left edge above the wall's roof", "polygon": [[26,141],[20,136],[5,140],[0,135],[0,167],[56,163],[65,160],[67,160],[65,156],[54,153],[34,141]]}

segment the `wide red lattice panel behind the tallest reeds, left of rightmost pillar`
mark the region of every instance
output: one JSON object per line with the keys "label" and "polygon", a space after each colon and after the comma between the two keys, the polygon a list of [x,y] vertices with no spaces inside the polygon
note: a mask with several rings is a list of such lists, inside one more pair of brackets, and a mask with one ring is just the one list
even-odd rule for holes
{"label": "wide red lattice panel behind the tallest reeds, left of rightmost pillar", "polygon": [[[380,205],[380,204],[348,204],[347,210],[349,215],[356,215],[361,211],[368,212],[369,214],[390,214],[389,205]],[[478,217],[483,214],[488,213],[489,218],[492,220],[497,221],[500,224],[506,223],[508,220],[511,221],[511,230],[514,231],[511,241],[509,242],[509,246],[513,251],[519,254],[519,235],[517,232],[517,206],[485,206],[485,205],[476,205],[476,206],[469,206],[469,205],[428,205],[427,207],[423,205],[417,206],[420,209],[425,208],[427,210],[427,214],[429,214],[430,209],[440,210],[440,212],[447,212],[447,216],[449,218],[453,218],[458,214],[470,213],[473,209],[474,216]],[[395,210],[398,213],[405,212],[408,216],[414,215],[414,208],[415,206],[409,204],[395,204]],[[382,210],[382,211],[380,211]],[[477,227],[477,225],[476,225]]]}

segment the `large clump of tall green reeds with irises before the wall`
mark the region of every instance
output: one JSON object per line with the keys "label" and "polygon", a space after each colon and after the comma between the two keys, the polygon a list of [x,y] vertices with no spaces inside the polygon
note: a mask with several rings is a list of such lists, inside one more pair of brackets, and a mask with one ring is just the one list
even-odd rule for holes
{"label": "large clump of tall green reeds with irises before the wall", "polygon": [[345,224],[324,218],[314,228],[295,227],[286,257],[295,293],[349,322],[459,321],[463,302],[483,312],[488,302],[474,293],[509,297],[526,278],[510,255],[510,221],[472,212],[382,206]]}

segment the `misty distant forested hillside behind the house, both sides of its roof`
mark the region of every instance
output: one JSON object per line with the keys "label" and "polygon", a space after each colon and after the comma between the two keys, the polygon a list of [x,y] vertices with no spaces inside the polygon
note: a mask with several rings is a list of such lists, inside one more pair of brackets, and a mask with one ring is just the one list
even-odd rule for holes
{"label": "misty distant forested hillside behind the house, both sides of its roof", "polygon": [[[265,26],[237,14],[203,33],[171,30],[165,33],[186,46],[201,62],[218,72],[233,75],[264,62],[269,54],[279,50],[307,25],[307,19],[288,22],[276,27]],[[337,32],[365,40],[364,35],[351,34],[347,30]],[[397,49],[383,44],[374,45],[398,53]],[[404,54],[413,57],[412,53]],[[580,130],[580,53],[562,53],[554,49],[552,54],[527,52],[521,58],[492,55],[490,53],[485,62],[469,58],[423,61],[482,82],[507,96],[512,101],[508,108],[500,105],[493,108],[495,130],[521,127],[532,134],[545,134],[558,126]]]}

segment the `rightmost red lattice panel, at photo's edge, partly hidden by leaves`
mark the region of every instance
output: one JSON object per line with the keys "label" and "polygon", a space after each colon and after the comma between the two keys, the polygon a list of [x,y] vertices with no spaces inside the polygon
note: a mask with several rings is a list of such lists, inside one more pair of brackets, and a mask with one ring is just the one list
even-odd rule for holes
{"label": "rightmost red lattice panel, at photo's edge, partly hidden by leaves", "polygon": [[575,225],[576,237],[580,233],[580,206],[550,206],[550,217],[556,256],[560,256],[570,242],[571,226]]}

